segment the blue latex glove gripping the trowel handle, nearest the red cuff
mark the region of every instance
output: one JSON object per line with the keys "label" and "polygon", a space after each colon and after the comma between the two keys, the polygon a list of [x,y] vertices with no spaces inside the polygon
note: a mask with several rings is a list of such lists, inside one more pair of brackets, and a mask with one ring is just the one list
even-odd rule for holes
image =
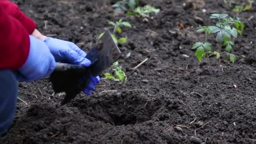
{"label": "blue latex glove gripping the trowel handle, nearest the red cuff", "polygon": [[27,61],[18,69],[16,78],[19,81],[34,81],[50,75],[56,67],[53,55],[48,46],[41,40],[29,35],[30,49]]}

